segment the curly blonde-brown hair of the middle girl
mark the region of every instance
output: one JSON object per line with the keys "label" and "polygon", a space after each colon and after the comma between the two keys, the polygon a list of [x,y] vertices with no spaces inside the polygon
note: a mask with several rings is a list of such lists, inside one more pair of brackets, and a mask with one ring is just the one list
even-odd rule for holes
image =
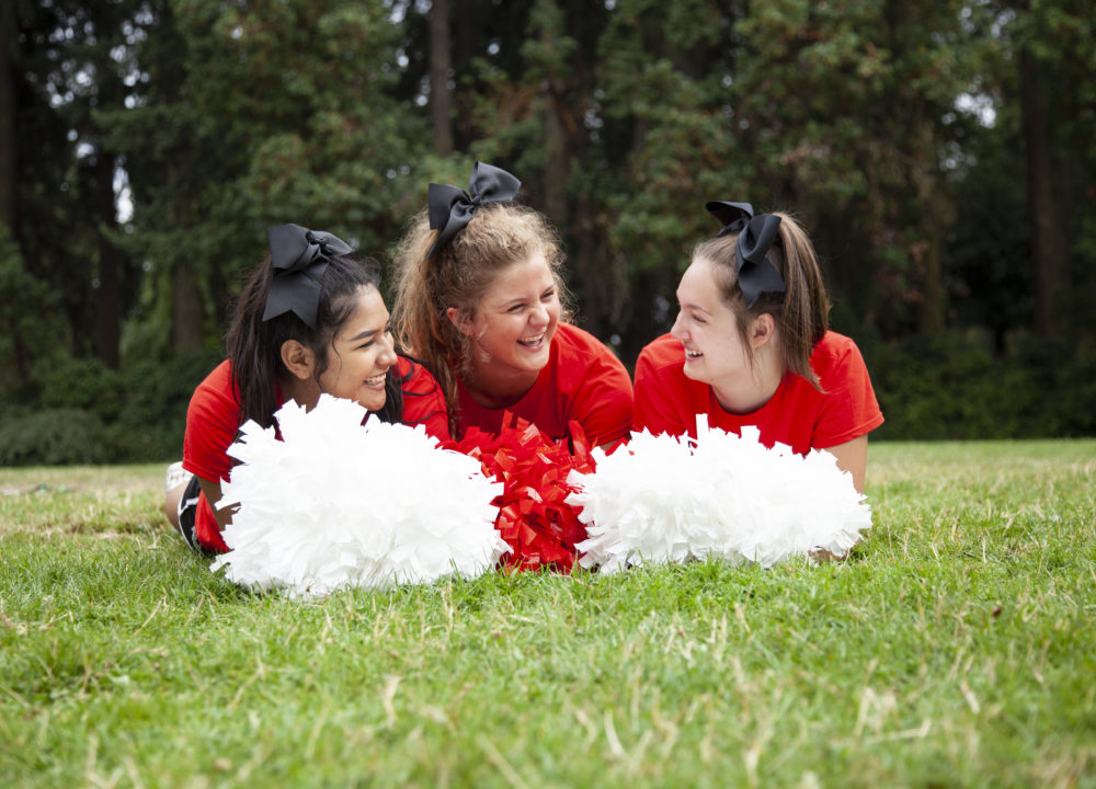
{"label": "curly blonde-brown hair of the middle girl", "polygon": [[467,373],[471,341],[453,325],[446,310],[455,307],[475,318],[495,276],[540,252],[556,279],[566,320],[568,299],[560,274],[563,251],[559,236],[540,213],[513,203],[479,206],[468,225],[427,259],[437,235],[430,229],[426,211],[421,211],[396,247],[392,328],[408,353],[421,359],[442,385],[456,435],[457,375]]}

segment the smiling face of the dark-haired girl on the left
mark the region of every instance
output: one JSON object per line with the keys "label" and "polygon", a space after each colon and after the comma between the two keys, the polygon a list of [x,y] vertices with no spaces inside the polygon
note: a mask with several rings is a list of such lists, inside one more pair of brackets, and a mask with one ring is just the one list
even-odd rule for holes
{"label": "smiling face of the dark-haired girl on the left", "polygon": [[377,411],[385,405],[385,375],[396,364],[396,350],[380,291],[366,286],[356,299],[354,311],[328,346],[320,390]]}

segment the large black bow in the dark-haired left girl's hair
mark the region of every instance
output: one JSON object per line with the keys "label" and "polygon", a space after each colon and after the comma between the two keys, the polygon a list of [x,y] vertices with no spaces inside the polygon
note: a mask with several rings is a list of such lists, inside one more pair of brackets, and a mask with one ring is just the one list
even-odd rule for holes
{"label": "large black bow in the dark-haired left girl's hair", "polygon": [[266,296],[263,320],[295,312],[310,329],[316,328],[323,273],[328,263],[354,250],[338,236],[309,230],[300,225],[267,228],[274,279]]}

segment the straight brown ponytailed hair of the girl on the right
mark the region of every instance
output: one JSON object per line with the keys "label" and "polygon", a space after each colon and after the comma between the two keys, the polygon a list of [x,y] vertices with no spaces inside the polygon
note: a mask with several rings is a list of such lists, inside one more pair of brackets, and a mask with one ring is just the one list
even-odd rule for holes
{"label": "straight brown ponytailed hair of the girl on the right", "polygon": [[692,260],[704,259],[715,265],[716,284],[723,302],[734,312],[750,363],[754,362],[753,347],[747,341],[750,324],[768,312],[776,319],[785,366],[821,390],[811,369],[811,352],[829,328],[830,297],[822,268],[803,227],[787,214],[774,211],[774,216],[780,217],[780,237],[766,256],[784,277],[787,285],[784,293],[763,293],[753,307],[746,307],[734,254],[737,235],[701,241],[693,249]]}

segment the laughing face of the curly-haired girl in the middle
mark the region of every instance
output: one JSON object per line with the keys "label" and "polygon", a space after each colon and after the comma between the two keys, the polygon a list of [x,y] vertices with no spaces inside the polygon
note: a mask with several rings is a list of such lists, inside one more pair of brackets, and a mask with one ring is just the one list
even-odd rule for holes
{"label": "laughing face of the curly-haired girl in the middle", "polygon": [[472,340],[473,367],[539,373],[548,364],[559,313],[556,278],[543,252],[504,268],[463,327]]}

